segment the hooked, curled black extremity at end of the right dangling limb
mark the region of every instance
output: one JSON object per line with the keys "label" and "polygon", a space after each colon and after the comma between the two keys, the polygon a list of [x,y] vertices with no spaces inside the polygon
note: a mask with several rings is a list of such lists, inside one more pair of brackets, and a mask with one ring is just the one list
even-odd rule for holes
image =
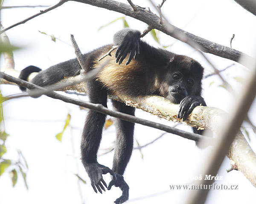
{"label": "hooked, curled black extremity at end of the right dangling limb", "polygon": [[108,184],[108,190],[110,190],[113,185],[115,187],[119,187],[122,190],[121,197],[117,198],[116,201],[114,201],[114,203],[120,204],[127,201],[129,198],[129,186],[125,182],[124,177],[120,174],[116,174],[116,180],[112,179],[110,181],[110,183]]}

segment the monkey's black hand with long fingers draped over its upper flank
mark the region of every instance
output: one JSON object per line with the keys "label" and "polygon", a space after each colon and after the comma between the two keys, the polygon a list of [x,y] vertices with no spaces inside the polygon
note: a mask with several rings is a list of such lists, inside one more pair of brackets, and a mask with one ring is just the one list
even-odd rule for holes
{"label": "monkey's black hand with long fingers draped over its upper flank", "polygon": [[128,53],[130,53],[125,65],[128,65],[131,62],[131,59],[136,59],[137,55],[140,53],[140,32],[132,29],[124,29],[126,31],[125,35],[122,38],[122,41],[119,43],[119,47],[116,49],[116,63],[120,65],[125,59]]}

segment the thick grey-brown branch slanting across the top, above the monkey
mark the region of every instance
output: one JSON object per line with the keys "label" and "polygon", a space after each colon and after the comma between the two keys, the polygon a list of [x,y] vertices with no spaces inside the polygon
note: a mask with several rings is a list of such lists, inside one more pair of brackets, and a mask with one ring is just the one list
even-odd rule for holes
{"label": "thick grey-brown branch slanting across the top, above the monkey", "polygon": [[[163,33],[166,33],[167,35],[170,35],[182,42],[185,42],[186,38],[189,38],[189,39],[197,42],[202,47],[201,50],[206,53],[214,54],[219,57],[226,58],[226,59],[231,59],[236,62],[239,62],[239,58],[241,57],[241,55],[247,56],[248,59],[252,58],[252,57],[248,56],[247,54],[244,54],[244,53],[237,51],[233,48],[229,48],[227,46],[219,45],[215,42],[211,42],[209,40],[206,40],[204,38],[201,38],[194,34],[191,34],[187,31],[183,31],[182,29],[177,28],[175,26],[172,26],[172,28],[173,28],[173,32],[172,32],[166,26],[161,25],[159,23],[160,18],[156,14],[153,14],[151,11],[147,11],[140,7],[138,7],[139,11],[137,11],[135,14],[134,10],[128,4],[116,2],[113,0],[108,0],[108,1],[106,1],[106,0],[97,0],[97,1],[95,1],[95,0],[73,0],[73,1],[90,4],[92,6],[97,6],[100,8],[106,8],[108,10],[116,11],[116,12],[125,14],[127,16],[133,17],[137,20],[147,23],[152,28],[156,28],[156,29],[162,31]],[[164,21],[165,20],[163,20],[163,22]]]}

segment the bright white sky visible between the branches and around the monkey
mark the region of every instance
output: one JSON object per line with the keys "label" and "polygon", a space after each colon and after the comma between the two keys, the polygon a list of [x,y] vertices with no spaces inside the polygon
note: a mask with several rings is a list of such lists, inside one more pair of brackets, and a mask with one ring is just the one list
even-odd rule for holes
{"label": "bright white sky visible between the branches and around the monkey", "polygon": [[[23,5],[51,5],[58,1],[52,0],[6,0],[3,6]],[[126,3],[125,0],[122,2]],[[134,0],[135,4],[141,7],[152,6],[146,0]],[[160,3],[160,1],[156,1]],[[4,9],[1,11],[1,21],[4,27],[25,19],[44,8],[17,8]],[[167,0],[163,6],[163,12],[173,25],[203,37],[207,40],[230,45],[230,38],[235,34],[232,47],[251,56],[255,56],[256,45],[256,17],[245,11],[233,0]],[[102,25],[124,15],[96,8],[90,5],[68,2],[61,7],[36,17],[29,22],[10,29],[6,32],[13,45],[24,47],[14,52],[15,68],[21,70],[28,65],[35,65],[46,69],[51,65],[75,57],[73,48],[57,40],[52,42],[50,37],[40,34],[38,31],[54,34],[55,37],[70,43],[70,34],[73,34],[76,42],[82,51],[87,52],[101,45],[112,42],[113,34],[122,29],[122,22],[116,22],[107,28],[97,31]],[[127,17],[131,28],[143,31],[147,26],[138,20]],[[157,44],[151,36],[145,40],[152,45]],[[160,41],[163,45],[175,42],[172,37],[160,34]],[[189,55],[204,65],[206,73],[211,67],[204,59],[195,53],[191,48],[181,42],[169,49],[177,54]],[[233,62],[227,59],[207,54],[212,62],[220,70]],[[1,63],[3,63],[1,58]],[[247,69],[236,63],[223,73],[235,90],[239,90],[241,83],[233,77],[244,77],[246,79]],[[214,83],[209,87],[209,84]],[[235,99],[221,85],[218,77],[209,77],[204,80],[204,98],[207,105],[230,111]],[[4,96],[20,93],[16,86],[1,85]],[[69,95],[70,96],[70,95]],[[72,96],[75,97],[76,96]],[[86,99],[82,98],[81,99]],[[256,106],[255,103],[250,110],[249,116],[255,124]],[[90,186],[84,168],[81,165],[80,136],[84,124],[86,111],[81,111],[75,105],[65,104],[46,96],[38,99],[23,98],[15,99],[4,104],[5,128],[10,134],[6,145],[8,153],[4,158],[17,158],[17,151],[21,150],[25,156],[29,171],[27,182],[29,190],[26,190],[22,178],[18,175],[18,182],[12,188],[9,174],[5,173],[0,177],[0,204],[11,203],[81,203],[78,193],[78,173],[88,183],[80,184],[82,196],[85,203],[113,203],[121,195],[118,188],[112,187],[108,192],[101,194],[94,193]],[[71,126],[67,129],[60,143],[55,135],[62,131],[67,114],[71,114]],[[136,116],[151,119],[156,122],[173,125],[172,122],[157,119],[149,113],[137,111]],[[244,125],[248,127],[248,125]],[[190,131],[189,127],[182,127]],[[256,139],[252,130],[248,128],[251,136],[251,146],[256,151]],[[136,125],[135,138],[143,145],[150,142],[161,134],[161,131],[150,127]],[[105,131],[102,139],[102,148],[112,144],[115,138],[114,127]],[[72,142],[74,153],[72,149]],[[134,143],[136,146],[136,143]],[[189,184],[190,176],[198,176],[196,170],[200,168],[206,150],[198,150],[194,142],[182,139],[179,136],[167,134],[154,144],[143,148],[143,159],[138,150],[134,150],[131,161],[128,164],[124,175],[125,181],[130,187],[131,203],[183,203],[189,191],[169,190],[169,185]],[[73,157],[75,156],[75,158]],[[99,163],[112,167],[113,153],[99,157]],[[78,166],[77,166],[78,165]],[[239,190],[213,190],[209,194],[207,204],[213,203],[253,203],[255,200],[255,188],[238,171],[226,173],[229,168],[229,160],[226,158],[218,175],[224,180],[217,182],[219,185],[238,185]],[[110,181],[109,176],[104,177]],[[107,182],[108,183],[108,182]],[[162,193],[143,200],[135,198]]]}

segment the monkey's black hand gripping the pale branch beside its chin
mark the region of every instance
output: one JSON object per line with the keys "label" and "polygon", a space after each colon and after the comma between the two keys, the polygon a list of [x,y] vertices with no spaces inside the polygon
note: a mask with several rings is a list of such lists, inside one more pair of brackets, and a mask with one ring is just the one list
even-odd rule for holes
{"label": "monkey's black hand gripping the pale branch beside its chin", "polygon": [[204,99],[201,96],[186,96],[180,102],[180,109],[178,111],[177,118],[185,121],[194,108],[198,105],[206,106]]}

